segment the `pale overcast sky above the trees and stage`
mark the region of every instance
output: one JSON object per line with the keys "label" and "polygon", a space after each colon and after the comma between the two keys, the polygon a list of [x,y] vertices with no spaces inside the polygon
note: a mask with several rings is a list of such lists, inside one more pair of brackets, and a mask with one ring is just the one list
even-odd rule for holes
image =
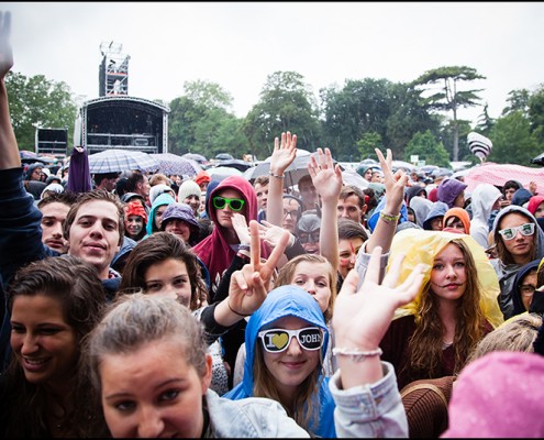
{"label": "pale overcast sky above the trees and stage", "polygon": [[[100,45],[130,55],[129,95],[169,102],[218,82],[245,117],[268,75],[293,70],[315,94],[346,79],[410,81],[443,66],[487,77],[462,89],[492,118],[508,92],[544,84],[543,2],[2,2],[14,72],[98,97]],[[462,82],[463,84],[463,82]],[[459,118],[476,122],[478,110]]]}

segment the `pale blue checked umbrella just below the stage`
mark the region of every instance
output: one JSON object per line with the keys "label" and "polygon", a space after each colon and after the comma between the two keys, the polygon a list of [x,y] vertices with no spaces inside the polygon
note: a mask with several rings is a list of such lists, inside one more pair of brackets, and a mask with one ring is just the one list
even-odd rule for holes
{"label": "pale blue checked umbrella just below the stage", "polygon": [[159,164],[149,154],[127,150],[104,150],[89,155],[91,174],[121,173],[130,169],[156,172]]}

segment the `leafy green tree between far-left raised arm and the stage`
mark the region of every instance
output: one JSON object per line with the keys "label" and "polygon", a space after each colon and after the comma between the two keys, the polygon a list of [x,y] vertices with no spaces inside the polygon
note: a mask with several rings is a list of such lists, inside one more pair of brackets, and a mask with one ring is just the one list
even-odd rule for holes
{"label": "leafy green tree between far-left raised arm and the stage", "polygon": [[77,106],[66,82],[43,75],[26,77],[10,72],[5,77],[11,123],[20,150],[34,151],[36,128],[68,129],[74,133]]}

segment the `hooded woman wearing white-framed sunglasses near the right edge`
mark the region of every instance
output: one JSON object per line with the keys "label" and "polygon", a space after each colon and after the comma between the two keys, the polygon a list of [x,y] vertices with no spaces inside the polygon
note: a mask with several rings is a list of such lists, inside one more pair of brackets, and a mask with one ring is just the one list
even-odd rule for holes
{"label": "hooded woman wearing white-framed sunglasses near the right edge", "polygon": [[[506,218],[514,215],[521,217],[524,222],[523,224],[533,224],[532,233],[530,233],[531,227],[528,227],[526,230],[520,230],[521,224],[515,229],[512,227],[506,228]],[[520,221],[518,221],[518,223]],[[511,237],[510,234],[503,239],[502,235],[507,233],[513,235]],[[523,240],[525,240],[526,237],[531,237],[532,240],[530,241],[529,246],[517,246],[514,248],[514,253],[512,253],[510,248],[515,245],[517,240],[521,240],[520,235]],[[539,228],[535,217],[529,210],[518,205],[509,205],[497,213],[491,230],[491,237],[493,243],[497,245],[498,254],[498,258],[492,258],[491,264],[499,277],[499,305],[504,315],[504,319],[509,319],[513,314],[512,288],[515,274],[524,264],[544,256],[544,232]]]}

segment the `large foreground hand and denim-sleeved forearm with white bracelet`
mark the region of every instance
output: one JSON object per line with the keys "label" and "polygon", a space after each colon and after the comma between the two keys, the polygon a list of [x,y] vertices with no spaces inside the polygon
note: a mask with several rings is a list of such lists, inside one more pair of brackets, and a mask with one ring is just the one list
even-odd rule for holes
{"label": "large foreground hand and denim-sleeved forearm with white bracelet", "polygon": [[[378,344],[395,309],[411,301],[423,283],[423,265],[397,286],[402,257],[393,262],[379,283],[381,249],[375,248],[363,287],[357,292],[357,273],[351,271],[336,298],[333,314],[338,370],[329,387],[336,408],[337,437],[408,437],[408,420],[397,387],[393,366],[381,362]],[[338,353],[340,351],[340,353]],[[368,410],[362,411],[357,403]],[[371,409],[370,409],[371,408]]]}

